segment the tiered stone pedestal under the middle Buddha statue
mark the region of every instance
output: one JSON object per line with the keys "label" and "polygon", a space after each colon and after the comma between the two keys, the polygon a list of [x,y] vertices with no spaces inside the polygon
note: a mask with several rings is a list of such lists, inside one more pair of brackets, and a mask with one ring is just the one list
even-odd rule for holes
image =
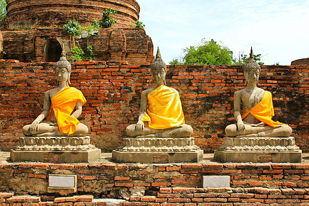
{"label": "tiered stone pedestal under the middle Buddha statue", "polygon": [[203,160],[203,150],[193,137],[124,138],[124,146],[113,150],[119,163],[189,163]]}

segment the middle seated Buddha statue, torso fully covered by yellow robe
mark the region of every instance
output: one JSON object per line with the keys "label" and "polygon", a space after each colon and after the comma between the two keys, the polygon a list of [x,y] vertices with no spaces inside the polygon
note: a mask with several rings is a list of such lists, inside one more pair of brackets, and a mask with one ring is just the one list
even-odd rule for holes
{"label": "middle seated Buddha statue, torso fully covered by yellow robe", "polygon": [[141,93],[137,124],[127,126],[130,137],[190,137],[193,129],[185,124],[178,91],[165,84],[166,65],[158,48],[150,66],[153,86]]}

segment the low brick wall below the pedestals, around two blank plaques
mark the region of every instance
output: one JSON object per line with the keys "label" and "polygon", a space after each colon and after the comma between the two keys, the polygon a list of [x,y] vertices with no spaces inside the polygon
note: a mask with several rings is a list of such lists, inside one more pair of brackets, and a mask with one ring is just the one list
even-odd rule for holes
{"label": "low brick wall below the pedestals, around two blank plaques", "polygon": [[[14,191],[16,196],[55,196],[57,194],[47,193],[48,174],[77,175],[77,194],[80,195],[124,198],[122,194],[126,193],[131,202],[144,205],[308,203],[309,200],[309,165],[305,163],[5,163],[0,164],[0,192]],[[211,175],[230,176],[231,188],[203,188],[202,177]],[[130,193],[130,189],[137,187],[143,187],[144,197]]]}

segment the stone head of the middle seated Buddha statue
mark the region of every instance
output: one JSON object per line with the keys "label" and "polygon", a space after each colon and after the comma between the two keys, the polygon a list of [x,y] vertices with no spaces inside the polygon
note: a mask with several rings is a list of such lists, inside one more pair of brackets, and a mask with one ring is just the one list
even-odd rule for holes
{"label": "stone head of the middle seated Buddha statue", "polygon": [[166,65],[161,58],[160,49],[158,47],[156,59],[150,65],[150,71],[152,75],[152,82],[157,84],[158,82],[165,82],[165,74],[166,74]]}

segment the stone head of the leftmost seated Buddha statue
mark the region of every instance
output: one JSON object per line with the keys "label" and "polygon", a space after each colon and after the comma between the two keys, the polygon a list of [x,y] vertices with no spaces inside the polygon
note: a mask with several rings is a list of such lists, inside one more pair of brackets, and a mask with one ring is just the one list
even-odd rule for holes
{"label": "stone head of the leftmost seated Buddha statue", "polygon": [[71,63],[65,57],[64,47],[62,47],[62,54],[61,54],[60,60],[56,62],[55,71],[56,71],[58,82],[68,82],[69,84],[71,84],[70,82]]}

